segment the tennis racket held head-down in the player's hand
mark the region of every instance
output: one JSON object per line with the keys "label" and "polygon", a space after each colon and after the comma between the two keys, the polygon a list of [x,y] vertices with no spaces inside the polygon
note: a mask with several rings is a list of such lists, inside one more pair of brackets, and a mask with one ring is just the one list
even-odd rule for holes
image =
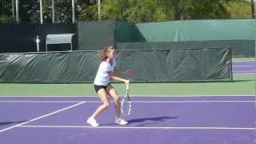
{"label": "tennis racket held head-down in the player's hand", "polygon": [[130,97],[129,97],[129,84],[130,82],[126,82],[126,95],[124,98],[122,98],[121,102],[121,112],[122,115],[127,116],[130,115],[130,110],[131,110],[131,102],[130,102]]}

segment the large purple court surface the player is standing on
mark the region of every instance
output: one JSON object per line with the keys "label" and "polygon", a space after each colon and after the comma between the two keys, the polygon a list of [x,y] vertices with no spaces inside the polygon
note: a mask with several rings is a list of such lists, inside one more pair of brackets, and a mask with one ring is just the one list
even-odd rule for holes
{"label": "large purple court surface the player is standing on", "polygon": [[114,105],[86,118],[95,97],[1,97],[0,142],[82,143],[255,143],[254,96],[132,97],[127,126],[114,123]]}

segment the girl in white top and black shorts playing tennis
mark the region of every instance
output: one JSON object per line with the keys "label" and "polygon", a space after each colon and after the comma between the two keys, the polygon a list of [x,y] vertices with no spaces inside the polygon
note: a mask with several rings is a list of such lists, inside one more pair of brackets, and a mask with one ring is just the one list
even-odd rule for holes
{"label": "girl in white top and black shorts playing tennis", "polygon": [[126,85],[129,84],[129,80],[116,77],[115,74],[118,72],[121,74],[127,74],[130,70],[121,71],[115,70],[115,50],[113,46],[108,46],[102,50],[102,58],[101,63],[98,67],[98,72],[96,77],[94,78],[94,89],[98,94],[100,100],[102,101],[102,105],[98,106],[98,109],[94,111],[94,114],[87,119],[87,123],[90,126],[99,126],[96,121],[96,117],[98,114],[101,114],[103,110],[106,110],[110,106],[109,96],[114,99],[114,109],[115,109],[115,122],[119,125],[127,125],[124,119],[120,117],[120,102],[117,91],[110,84],[110,79],[119,82],[125,82]]}

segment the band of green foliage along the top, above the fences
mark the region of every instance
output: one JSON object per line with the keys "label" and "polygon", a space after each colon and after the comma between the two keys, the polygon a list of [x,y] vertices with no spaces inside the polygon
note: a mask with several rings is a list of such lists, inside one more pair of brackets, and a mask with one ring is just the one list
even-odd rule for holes
{"label": "band of green foliage along the top, above the fences", "polygon": [[[98,0],[75,0],[78,21],[98,20]],[[43,20],[52,21],[51,0],[42,0]],[[71,0],[54,0],[55,21],[71,22]],[[21,22],[40,22],[39,0],[19,0]],[[0,22],[12,22],[11,0],[0,1]],[[243,0],[102,0],[102,20],[160,22],[182,19],[251,18]]]}

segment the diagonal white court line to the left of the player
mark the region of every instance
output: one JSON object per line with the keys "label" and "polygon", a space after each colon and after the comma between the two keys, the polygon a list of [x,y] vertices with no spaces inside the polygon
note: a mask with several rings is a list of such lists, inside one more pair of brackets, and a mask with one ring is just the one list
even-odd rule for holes
{"label": "diagonal white court line to the left of the player", "polygon": [[6,131],[6,130],[13,129],[13,128],[18,127],[18,126],[25,125],[25,124],[27,124],[27,123],[29,123],[29,122],[34,122],[34,121],[36,121],[36,120],[38,120],[38,119],[48,117],[48,116],[50,116],[50,115],[52,115],[52,114],[57,114],[57,113],[59,113],[59,112],[61,112],[61,111],[68,110],[68,109],[70,109],[70,108],[72,108],[72,107],[82,105],[83,103],[85,103],[85,102],[80,102],[80,103],[74,104],[74,105],[72,105],[72,106],[68,106],[68,107],[66,107],[66,108],[63,108],[63,109],[61,109],[61,110],[56,110],[56,111],[54,111],[54,112],[51,112],[50,114],[45,114],[45,115],[42,115],[42,116],[40,116],[40,117],[38,117],[38,118],[31,119],[30,121],[22,122],[22,123],[20,123],[20,124],[18,124],[18,125],[14,125],[14,126],[7,127],[6,129],[0,130],[0,133],[4,132],[4,131]]}

